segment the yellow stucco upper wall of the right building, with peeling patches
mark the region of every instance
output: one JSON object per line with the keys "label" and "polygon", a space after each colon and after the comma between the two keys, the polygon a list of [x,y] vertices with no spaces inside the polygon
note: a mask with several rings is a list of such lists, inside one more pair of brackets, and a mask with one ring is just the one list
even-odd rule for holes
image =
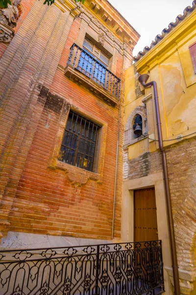
{"label": "yellow stucco upper wall of the right building, with peeling patches", "polygon": [[[196,74],[189,51],[189,46],[194,42],[196,42],[196,12],[126,70],[125,124],[131,112],[137,106],[145,106],[142,100],[151,91],[153,92],[151,88],[144,89],[140,86],[142,93],[139,97],[136,96],[139,84],[135,73],[136,71],[139,74],[147,73],[150,76],[147,82],[154,80],[157,83],[163,140],[170,140],[164,141],[164,146],[175,143],[177,135],[187,136],[196,132]],[[146,106],[148,136],[155,134],[157,140],[153,97],[151,107],[149,101]],[[137,152],[135,145],[130,145],[128,148],[129,159],[143,153],[139,143],[137,143]],[[158,142],[145,143],[145,151],[152,152],[157,148]]]}

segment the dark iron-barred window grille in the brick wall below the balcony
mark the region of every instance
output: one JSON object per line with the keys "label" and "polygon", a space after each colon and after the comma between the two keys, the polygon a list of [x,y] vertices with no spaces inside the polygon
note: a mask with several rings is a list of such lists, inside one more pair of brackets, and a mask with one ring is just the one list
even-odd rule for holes
{"label": "dark iron-barred window grille in the brick wall below the balcony", "polygon": [[71,110],[58,159],[64,163],[93,171],[99,129],[100,126]]}

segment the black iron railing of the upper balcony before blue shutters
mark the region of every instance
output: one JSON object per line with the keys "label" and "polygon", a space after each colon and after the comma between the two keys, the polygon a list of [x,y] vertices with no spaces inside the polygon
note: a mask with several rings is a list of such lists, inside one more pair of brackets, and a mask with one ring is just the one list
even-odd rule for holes
{"label": "black iron railing of the upper balcony before blue shutters", "polygon": [[75,43],[70,49],[68,64],[120,98],[121,80],[110,72],[101,61]]}

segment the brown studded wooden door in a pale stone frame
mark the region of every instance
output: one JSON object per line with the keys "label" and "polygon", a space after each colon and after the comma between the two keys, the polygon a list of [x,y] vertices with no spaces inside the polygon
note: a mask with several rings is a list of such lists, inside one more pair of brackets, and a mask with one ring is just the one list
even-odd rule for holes
{"label": "brown studded wooden door in a pale stone frame", "polygon": [[158,239],[154,188],[134,191],[134,241]]}

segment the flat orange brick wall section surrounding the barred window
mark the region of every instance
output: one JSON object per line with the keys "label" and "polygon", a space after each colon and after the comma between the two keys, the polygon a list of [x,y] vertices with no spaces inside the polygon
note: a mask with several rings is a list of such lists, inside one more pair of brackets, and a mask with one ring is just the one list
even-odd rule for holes
{"label": "flat orange brick wall section surrounding the barred window", "polygon": [[[51,89],[63,97],[68,97],[65,102],[68,107],[80,107],[91,112],[92,116],[95,114],[100,119],[107,118],[103,183],[89,180],[86,185],[75,188],[66,178],[64,171],[53,171],[48,168],[53,141],[59,128],[59,112],[62,112],[62,109],[56,107],[54,97],[50,101],[46,99],[8,218],[10,230],[109,238],[114,195],[118,108],[103,104],[86,89],[69,81],[60,70],[55,74]],[[56,99],[58,100],[58,97]],[[46,122],[49,127],[46,126]]]}

